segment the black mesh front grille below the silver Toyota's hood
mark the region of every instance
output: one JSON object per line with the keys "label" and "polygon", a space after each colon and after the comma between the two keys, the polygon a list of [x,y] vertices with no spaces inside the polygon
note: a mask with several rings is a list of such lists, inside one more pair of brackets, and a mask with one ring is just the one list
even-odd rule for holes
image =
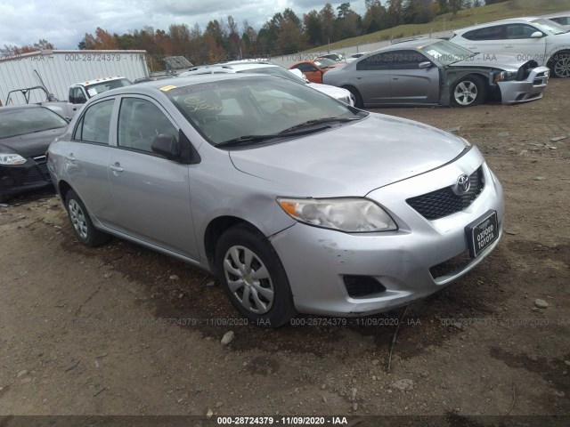
{"label": "black mesh front grille below the silver Toyota's hood", "polygon": [[483,166],[480,166],[469,176],[469,190],[461,196],[456,195],[452,187],[445,187],[418,197],[408,198],[406,202],[424,218],[437,220],[467,208],[484,188]]}

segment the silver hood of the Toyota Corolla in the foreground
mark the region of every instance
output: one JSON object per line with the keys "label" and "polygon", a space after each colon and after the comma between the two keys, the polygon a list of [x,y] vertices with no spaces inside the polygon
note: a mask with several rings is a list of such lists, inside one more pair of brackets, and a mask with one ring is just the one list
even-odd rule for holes
{"label": "silver hood of the Toyota Corolla in the foreground", "polygon": [[297,197],[364,196],[458,157],[465,144],[434,127],[371,113],[359,122],[256,149],[230,151],[243,173]]}

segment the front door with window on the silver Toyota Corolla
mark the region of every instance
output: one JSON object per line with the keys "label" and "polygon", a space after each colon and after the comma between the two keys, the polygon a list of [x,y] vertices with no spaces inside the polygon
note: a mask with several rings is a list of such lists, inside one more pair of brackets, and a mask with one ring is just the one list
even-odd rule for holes
{"label": "front door with window on the silver Toyota Corolla", "polygon": [[156,101],[120,99],[117,146],[108,164],[117,230],[174,254],[198,260],[192,226],[189,165],[151,150],[159,135],[179,138],[179,126]]}

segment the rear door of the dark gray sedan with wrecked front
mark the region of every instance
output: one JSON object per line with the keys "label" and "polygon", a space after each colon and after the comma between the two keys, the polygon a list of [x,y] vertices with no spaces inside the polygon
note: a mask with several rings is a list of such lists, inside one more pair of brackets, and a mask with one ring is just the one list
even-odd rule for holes
{"label": "rear door of the dark gray sedan with wrecked front", "polygon": [[372,53],[356,63],[352,82],[366,105],[382,105],[391,101],[390,53]]}

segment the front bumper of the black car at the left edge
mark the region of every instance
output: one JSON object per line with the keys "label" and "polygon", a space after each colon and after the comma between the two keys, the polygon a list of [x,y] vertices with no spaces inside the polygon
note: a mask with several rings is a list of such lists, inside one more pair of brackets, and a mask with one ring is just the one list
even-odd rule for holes
{"label": "front bumper of the black car at the left edge", "polygon": [[0,166],[0,195],[12,196],[28,190],[51,187],[45,156],[28,157],[23,165]]}

